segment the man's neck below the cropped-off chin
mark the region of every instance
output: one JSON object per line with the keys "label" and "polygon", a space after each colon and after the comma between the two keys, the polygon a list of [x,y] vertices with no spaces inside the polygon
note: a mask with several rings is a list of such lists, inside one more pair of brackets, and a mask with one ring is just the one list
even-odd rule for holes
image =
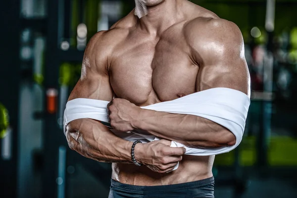
{"label": "man's neck below the cropped-off chin", "polygon": [[178,20],[178,1],[164,0],[152,6],[139,1],[135,7],[135,15],[139,17],[138,24],[149,34],[157,35],[166,30]]}

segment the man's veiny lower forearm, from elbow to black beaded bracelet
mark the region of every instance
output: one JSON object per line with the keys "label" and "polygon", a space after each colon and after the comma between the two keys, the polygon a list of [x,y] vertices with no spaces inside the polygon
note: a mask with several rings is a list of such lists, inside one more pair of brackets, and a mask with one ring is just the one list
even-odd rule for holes
{"label": "man's veiny lower forearm, from elbow to black beaded bracelet", "polygon": [[73,121],[67,126],[66,136],[70,148],[85,157],[99,162],[133,163],[133,143],[116,136],[98,121]]}

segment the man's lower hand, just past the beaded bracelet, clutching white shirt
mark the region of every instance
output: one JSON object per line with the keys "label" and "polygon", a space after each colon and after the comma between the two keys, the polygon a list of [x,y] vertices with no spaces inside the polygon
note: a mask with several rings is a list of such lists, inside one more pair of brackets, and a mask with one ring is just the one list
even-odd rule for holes
{"label": "man's lower hand, just past the beaded bracelet, clutching white shirt", "polygon": [[171,141],[161,139],[145,144],[136,144],[135,159],[158,173],[172,171],[182,155],[186,152],[184,147],[170,147]]}

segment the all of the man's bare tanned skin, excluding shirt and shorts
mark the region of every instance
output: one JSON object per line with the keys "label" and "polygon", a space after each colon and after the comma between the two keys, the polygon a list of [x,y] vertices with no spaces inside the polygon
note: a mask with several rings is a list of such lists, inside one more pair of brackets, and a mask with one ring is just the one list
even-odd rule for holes
{"label": "all of the man's bare tanned skin, excluding shirt and shorts", "polygon": [[[69,100],[112,101],[108,105],[111,125],[120,131],[142,129],[193,147],[233,145],[234,135],[209,120],[139,107],[215,87],[249,95],[239,28],[188,0],[141,1],[148,5],[146,16],[139,19],[133,10],[91,39],[81,79]],[[212,176],[214,156],[182,156],[185,150],[169,147],[167,140],[137,144],[135,157],[147,165],[137,167],[131,164],[132,142],[120,139],[97,121],[73,121],[66,136],[70,148],[82,155],[115,162],[112,179],[121,183],[169,185]],[[178,161],[179,168],[166,173]]]}

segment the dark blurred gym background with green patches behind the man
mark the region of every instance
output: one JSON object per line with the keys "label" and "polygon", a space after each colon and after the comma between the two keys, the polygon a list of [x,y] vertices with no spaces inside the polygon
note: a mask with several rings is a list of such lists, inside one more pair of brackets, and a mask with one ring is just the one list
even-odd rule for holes
{"label": "dark blurred gym background with green patches behind the man", "polygon": [[[235,22],[251,106],[236,150],[216,156],[216,198],[297,198],[297,0],[192,0]],[[84,49],[134,0],[0,2],[0,197],[106,198],[110,164],[68,148],[62,115]]]}

